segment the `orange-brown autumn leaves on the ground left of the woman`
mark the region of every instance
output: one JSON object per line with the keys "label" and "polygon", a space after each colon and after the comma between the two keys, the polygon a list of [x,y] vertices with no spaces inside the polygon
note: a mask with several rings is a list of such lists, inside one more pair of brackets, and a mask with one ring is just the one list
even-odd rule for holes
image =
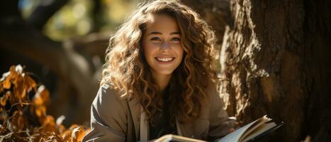
{"label": "orange-brown autumn leaves on the ground left of the woman", "polygon": [[82,141],[86,130],[62,125],[46,114],[50,92],[37,84],[21,65],[12,66],[0,79],[0,141]]}

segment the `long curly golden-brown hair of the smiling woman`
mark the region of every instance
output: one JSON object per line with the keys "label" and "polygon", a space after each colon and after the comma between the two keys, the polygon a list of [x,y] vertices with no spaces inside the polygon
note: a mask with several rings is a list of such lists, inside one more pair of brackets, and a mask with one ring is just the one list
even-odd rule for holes
{"label": "long curly golden-brown hair of the smiling woman", "polygon": [[138,97],[154,121],[162,111],[162,95],[152,78],[143,48],[142,36],[151,14],[172,16],[181,32],[184,57],[174,70],[168,85],[170,119],[175,116],[181,123],[196,120],[208,94],[207,87],[216,86],[217,76],[212,68],[215,34],[211,26],[198,14],[179,1],[157,0],[140,4],[125,18],[125,22],[112,35],[106,50],[101,84],[110,84],[120,92],[120,97]]}

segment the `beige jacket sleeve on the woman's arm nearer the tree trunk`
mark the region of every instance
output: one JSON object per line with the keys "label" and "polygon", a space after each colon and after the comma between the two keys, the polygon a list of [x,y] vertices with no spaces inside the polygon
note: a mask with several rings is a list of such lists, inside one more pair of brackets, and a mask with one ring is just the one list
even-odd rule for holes
{"label": "beige jacket sleeve on the woman's arm nearer the tree trunk", "polygon": [[230,129],[235,127],[235,121],[228,119],[228,113],[224,110],[224,102],[220,97],[216,88],[209,89],[210,97],[210,112],[209,112],[209,131],[208,140],[222,138],[230,133]]}

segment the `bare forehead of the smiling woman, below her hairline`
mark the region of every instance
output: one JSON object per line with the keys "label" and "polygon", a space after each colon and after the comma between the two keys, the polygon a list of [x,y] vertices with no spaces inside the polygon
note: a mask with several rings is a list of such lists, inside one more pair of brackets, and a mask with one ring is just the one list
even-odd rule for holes
{"label": "bare forehead of the smiling woman, below her hairline", "polygon": [[179,32],[176,19],[164,13],[150,14],[146,26],[147,31]]}

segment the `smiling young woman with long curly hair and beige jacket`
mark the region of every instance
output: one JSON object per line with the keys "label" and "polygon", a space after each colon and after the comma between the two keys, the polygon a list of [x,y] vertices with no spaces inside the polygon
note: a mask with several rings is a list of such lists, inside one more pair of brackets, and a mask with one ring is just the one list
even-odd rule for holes
{"label": "smiling young woman with long curly hair and beige jacket", "polygon": [[140,6],[110,40],[83,141],[169,133],[213,141],[230,133],[212,69],[214,43],[211,27],[179,1]]}

